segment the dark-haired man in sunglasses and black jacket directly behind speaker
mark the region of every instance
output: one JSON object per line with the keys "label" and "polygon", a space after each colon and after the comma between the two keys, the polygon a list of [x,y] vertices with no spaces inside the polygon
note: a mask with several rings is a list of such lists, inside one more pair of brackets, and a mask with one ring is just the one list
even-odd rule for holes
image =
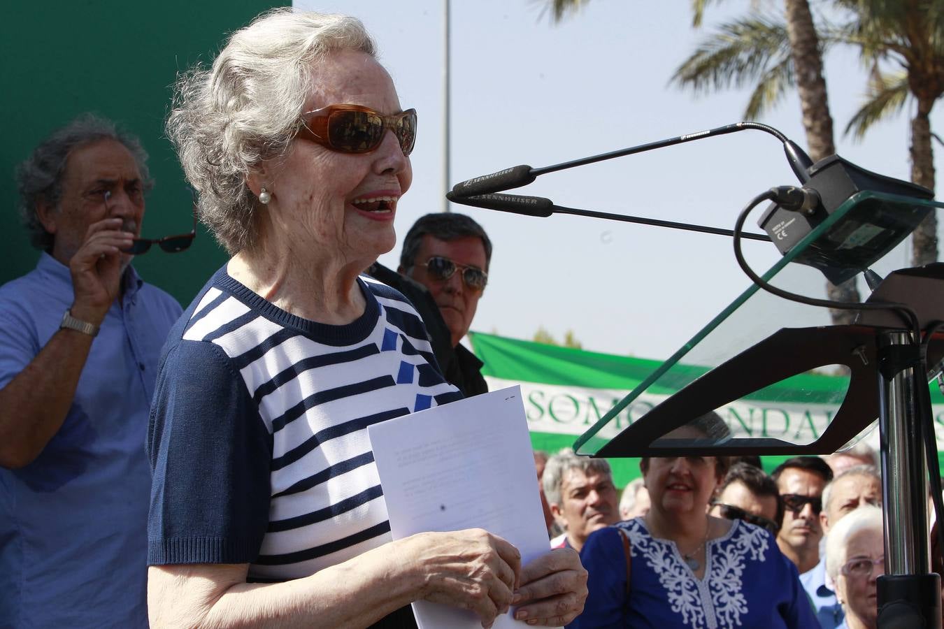
{"label": "dark-haired man in sunglasses and black jacket directly behind speaker", "polygon": [[[436,358],[446,379],[462,389],[466,397],[488,391],[480,373],[481,361],[459,341],[472,325],[488,282],[491,259],[492,241],[479,223],[464,214],[439,212],[413,223],[403,240],[397,268],[397,272],[430,291],[452,348],[450,355],[437,353]],[[422,308],[420,312],[425,320],[430,319]],[[435,325],[427,321],[430,333],[434,334]]]}

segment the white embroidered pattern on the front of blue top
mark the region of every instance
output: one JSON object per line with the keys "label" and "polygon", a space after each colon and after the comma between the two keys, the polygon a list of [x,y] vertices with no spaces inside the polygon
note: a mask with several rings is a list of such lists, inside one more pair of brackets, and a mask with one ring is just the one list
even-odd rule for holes
{"label": "white embroidered pattern on the front of blue top", "polygon": [[709,541],[705,560],[710,572],[706,582],[700,582],[683,563],[673,542],[650,537],[638,521],[619,526],[630,536],[632,555],[642,555],[659,576],[669,606],[682,616],[685,625],[714,629],[741,624],[741,616],[748,613],[742,592],[745,559],[766,560],[768,536],[763,529],[737,522],[730,537]]}

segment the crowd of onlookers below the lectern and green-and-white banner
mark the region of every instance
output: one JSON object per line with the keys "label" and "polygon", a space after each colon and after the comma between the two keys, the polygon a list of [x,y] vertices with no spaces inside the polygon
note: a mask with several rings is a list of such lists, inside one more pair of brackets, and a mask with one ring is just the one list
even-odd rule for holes
{"label": "crowd of onlookers below the lectern and green-and-white banner", "polygon": [[551,455],[551,511],[567,512],[571,486],[583,501],[551,540],[579,549],[589,573],[568,626],[874,629],[885,557],[877,463],[865,444],[788,458],[769,474],[756,456],[644,458],[615,518],[605,461]]}

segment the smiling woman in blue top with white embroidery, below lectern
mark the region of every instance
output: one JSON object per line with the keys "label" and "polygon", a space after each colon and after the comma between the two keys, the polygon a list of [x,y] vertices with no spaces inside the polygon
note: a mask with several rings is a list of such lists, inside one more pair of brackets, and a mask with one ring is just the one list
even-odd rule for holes
{"label": "smiling woman in blue top with white embroidery, below lectern", "polygon": [[[680,430],[704,437],[718,427],[726,430],[709,413]],[[639,467],[649,513],[587,539],[581,560],[590,593],[568,626],[818,628],[796,567],[770,533],[707,515],[725,457],[643,458]]]}

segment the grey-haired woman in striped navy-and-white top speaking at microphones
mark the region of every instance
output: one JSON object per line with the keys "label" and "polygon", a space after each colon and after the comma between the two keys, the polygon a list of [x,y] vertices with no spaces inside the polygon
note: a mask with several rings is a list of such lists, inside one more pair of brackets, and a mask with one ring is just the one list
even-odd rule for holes
{"label": "grey-haired woman in striped navy-and-white top speaking at microphones", "polygon": [[[171,332],[148,455],[152,626],[410,626],[405,605],[571,621],[569,550],[391,540],[367,426],[457,400],[413,307],[360,273],[395,244],[416,113],[361,23],[280,9],[177,86],[168,123],[232,257]],[[500,489],[499,489],[500,490]]]}

